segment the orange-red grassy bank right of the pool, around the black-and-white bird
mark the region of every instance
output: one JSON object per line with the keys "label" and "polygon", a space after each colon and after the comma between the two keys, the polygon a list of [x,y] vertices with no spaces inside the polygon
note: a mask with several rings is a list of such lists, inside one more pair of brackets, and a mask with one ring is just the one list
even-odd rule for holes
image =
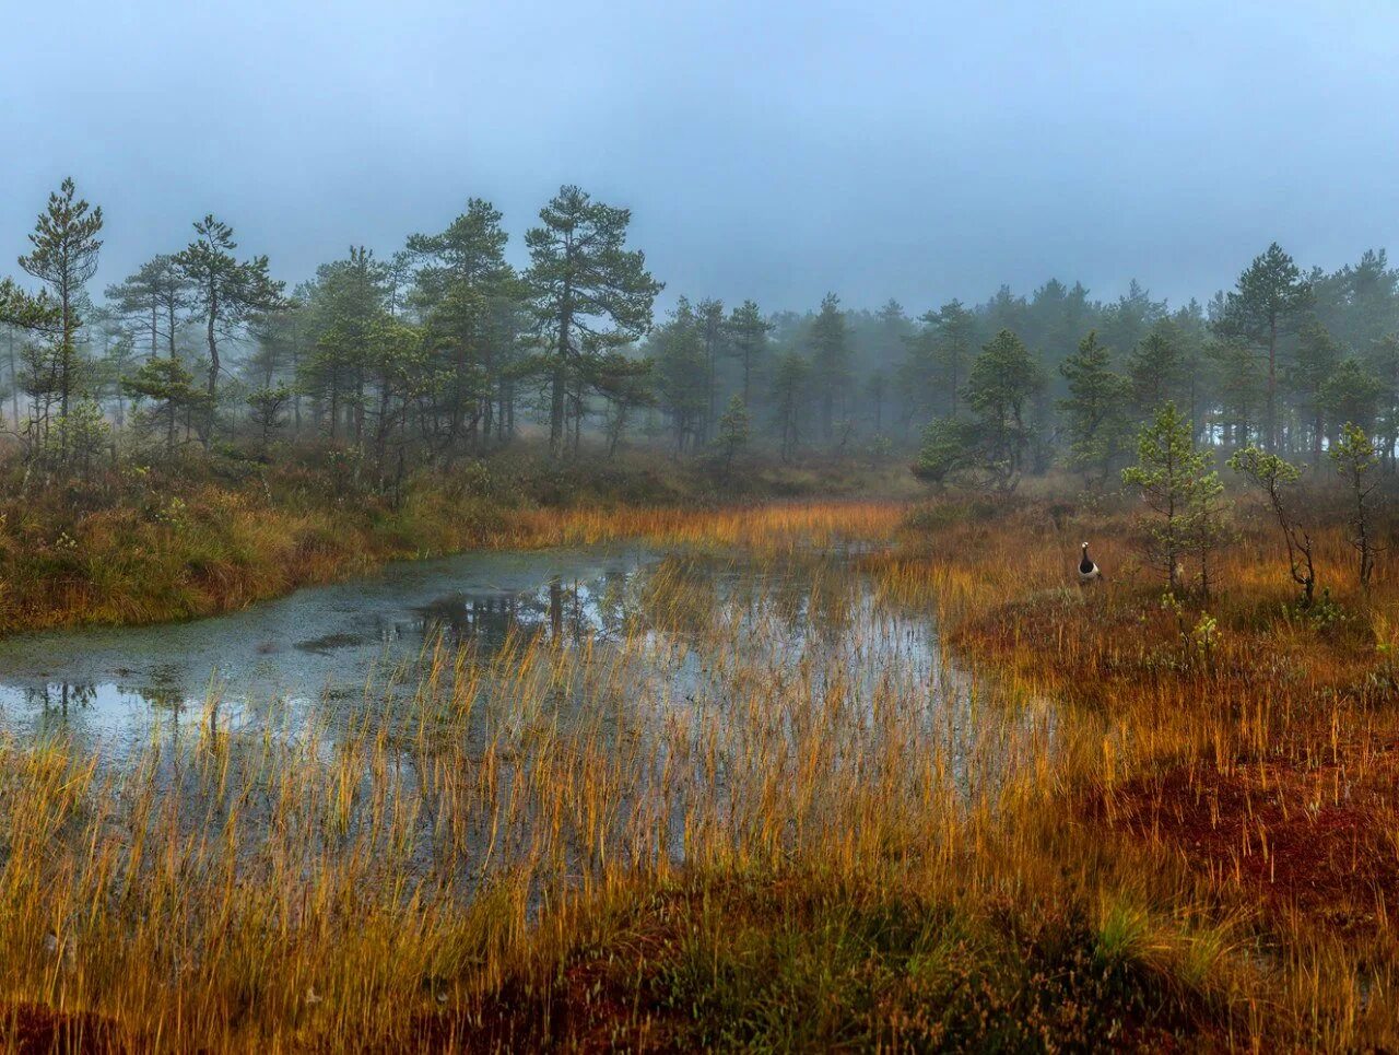
{"label": "orange-red grassy bank right of the pool, around the black-and-white bird", "polygon": [[[1392,571],[1363,596],[1346,529],[1323,525],[1330,607],[1300,613],[1280,540],[1241,504],[1214,596],[1170,603],[1123,514],[1048,502],[971,514],[918,533],[879,574],[894,596],[930,579],[956,611],[958,651],[1030,695],[1074,704],[1060,711],[1076,747],[1059,770],[1055,840],[1074,845],[1076,828],[1107,840],[1171,911],[1254,921],[1269,1013],[1300,1030],[1291,1042],[1393,1047]],[[1081,540],[1105,568],[1101,588],[1070,585]]]}

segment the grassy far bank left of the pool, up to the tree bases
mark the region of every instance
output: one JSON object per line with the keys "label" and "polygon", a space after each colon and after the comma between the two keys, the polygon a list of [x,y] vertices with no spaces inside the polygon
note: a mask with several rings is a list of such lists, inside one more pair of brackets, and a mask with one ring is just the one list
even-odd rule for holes
{"label": "grassy far bank left of the pool, up to the tree bases", "polygon": [[[6,472],[0,463],[8,495]],[[560,474],[593,487],[564,488]],[[866,502],[844,523],[846,505],[860,507],[832,504],[824,525],[803,525],[806,537],[860,537],[862,518],[888,508]],[[302,463],[239,466],[231,479],[203,462],[123,465],[97,484],[32,484],[0,500],[0,634],[211,616],[389,561],[466,550],[621,539],[764,548],[788,537],[783,515],[709,508],[649,463],[565,472],[471,462],[413,477],[395,495]]]}

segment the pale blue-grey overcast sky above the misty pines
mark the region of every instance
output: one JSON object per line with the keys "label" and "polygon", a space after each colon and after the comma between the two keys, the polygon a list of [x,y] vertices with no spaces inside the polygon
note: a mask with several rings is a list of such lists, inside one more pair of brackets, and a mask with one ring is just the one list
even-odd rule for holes
{"label": "pale blue-grey overcast sky above the misty pines", "polygon": [[560,183],[667,297],[914,312],[1399,231],[1389,0],[0,0],[0,274],[71,174],[98,285],[213,211],[291,281]]}

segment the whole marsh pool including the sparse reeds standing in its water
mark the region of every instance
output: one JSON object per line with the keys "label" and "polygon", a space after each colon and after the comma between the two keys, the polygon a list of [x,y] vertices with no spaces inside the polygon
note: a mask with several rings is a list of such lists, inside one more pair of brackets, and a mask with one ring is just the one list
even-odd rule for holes
{"label": "whole marsh pool including the sparse reeds standing in its water", "polygon": [[[375,883],[450,876],[470,898],[527,875],[533,902],[732,826],[788,844],[876,772],[925,800],[999,779],[1007,726],[986,733],[932,607],[866,555],[471,554],[228,617],[11,638],[0,721],[95,758],[119,799],[164,800],[185,837],[236,817],[256,858],[301,827],[295,854],[372,848]],[[1020,742],[1039,719],[1011,725]],[[299,788],[295,817],[274,785]]]}

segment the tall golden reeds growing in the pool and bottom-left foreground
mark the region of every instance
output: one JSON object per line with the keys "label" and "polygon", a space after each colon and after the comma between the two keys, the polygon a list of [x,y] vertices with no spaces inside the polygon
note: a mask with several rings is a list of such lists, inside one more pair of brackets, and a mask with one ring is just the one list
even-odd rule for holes
{"label": "tall golden reeds growing in the pool and bottom-left foreground", "polygon": [[[848,579],[821,588],[852,599]],[[706,672],[683,695],[658,670],[684,656],[638,630],[606,652],[442,648],[411,705],[290,742],[232,733],[210,701],[197,739],[119,771],[7,744],[0,984],[141,1045],[400,1049],[443,1005],[466,1028],[567,943],[578,905],[681,865],[853,877],[946,859],[993,778],[1041,754],[1037,726],[990,716],[972,737],[898,667],[856,700],[848,651],[883,648],[876,624],[841,656],[811,641],[789,660],[775,599],[754,586],[767,614],[740,621],[706,589],[683,564],[648,585],[652,625],[709,614],[676,639]],[[951,775],[971,770],[975,807]]]}

